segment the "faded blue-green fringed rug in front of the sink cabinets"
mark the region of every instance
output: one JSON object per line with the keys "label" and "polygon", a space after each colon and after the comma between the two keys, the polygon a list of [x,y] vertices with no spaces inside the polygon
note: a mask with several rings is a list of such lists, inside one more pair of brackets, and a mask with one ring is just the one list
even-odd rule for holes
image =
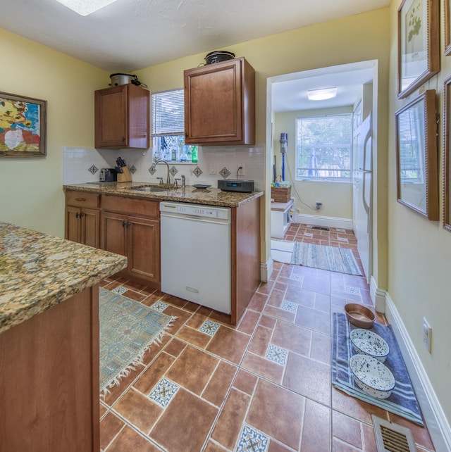
{"label": "faded blue-green fringed rug in front of the sink cabinets", "polygon": [[99,290],[100,393],[118,385],[138,365],[152,344],[170,328],[175,317],[138,301]]}

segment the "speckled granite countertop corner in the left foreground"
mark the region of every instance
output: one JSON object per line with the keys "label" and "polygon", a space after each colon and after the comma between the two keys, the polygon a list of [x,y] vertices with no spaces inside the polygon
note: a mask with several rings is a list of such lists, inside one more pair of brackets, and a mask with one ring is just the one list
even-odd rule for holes
{"label": "speckled granite countertop corner in the left foreground", "polygon": [[124,256],[0,221],[0,333],[126,266]]}

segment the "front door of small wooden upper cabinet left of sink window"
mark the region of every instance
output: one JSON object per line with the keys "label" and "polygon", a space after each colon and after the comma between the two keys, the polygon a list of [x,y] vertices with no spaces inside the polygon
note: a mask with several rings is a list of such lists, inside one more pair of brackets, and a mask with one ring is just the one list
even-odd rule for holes
{"label": "front door of small wooden upper cabinet left of sink window", "polygon": [[128,146],[128,84],[95,92],[95,147]]}

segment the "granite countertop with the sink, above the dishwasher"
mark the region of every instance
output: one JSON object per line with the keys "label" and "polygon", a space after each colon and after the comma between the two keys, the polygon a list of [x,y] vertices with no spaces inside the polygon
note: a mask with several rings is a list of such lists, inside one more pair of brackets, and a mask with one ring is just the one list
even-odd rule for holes
{"label": "granite countertop with the sink, above the dishwasher", "polygon": [[133,187],[160,187],[149,182],[90,182],[85,184],[64,185],[64,190],[80,190],[101,194],[116,194],[138,198],[155,199],[158,201],[179,201],[184,203],[208,204],[210,206],[239,207],[244,203],[263,196],[264,192],[235,193],[223,192],[209,187],[197,189],[192,185],[185,188],[168,188],[165,192],[137,192]]}

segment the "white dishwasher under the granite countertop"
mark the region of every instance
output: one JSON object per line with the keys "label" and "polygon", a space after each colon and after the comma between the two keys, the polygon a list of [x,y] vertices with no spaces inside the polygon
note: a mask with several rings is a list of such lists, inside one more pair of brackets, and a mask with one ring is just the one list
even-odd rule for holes
{"label": "white dishwasher under the granite countertop", "polygon": [[161,291],[230,314],[230,208],[162,201]]}

